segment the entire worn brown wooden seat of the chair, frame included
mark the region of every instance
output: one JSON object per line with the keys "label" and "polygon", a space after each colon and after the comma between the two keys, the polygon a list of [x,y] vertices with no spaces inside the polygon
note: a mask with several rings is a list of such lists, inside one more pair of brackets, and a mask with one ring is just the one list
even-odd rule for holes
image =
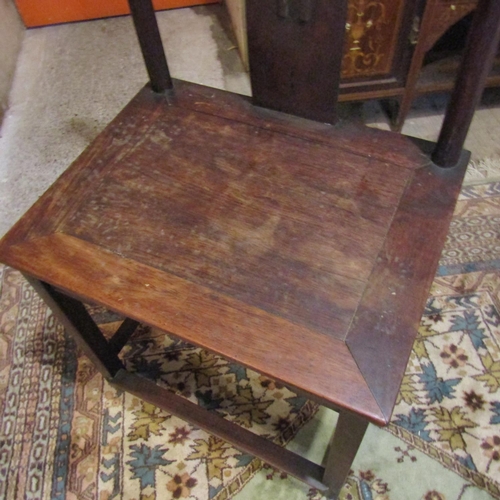
{"label": "entire worn brown wooden seat of the chair, frame included", "polygon": [[145,88],[0,258],[383,425],[463,173],[444,188],[429,163],[395,134]]}

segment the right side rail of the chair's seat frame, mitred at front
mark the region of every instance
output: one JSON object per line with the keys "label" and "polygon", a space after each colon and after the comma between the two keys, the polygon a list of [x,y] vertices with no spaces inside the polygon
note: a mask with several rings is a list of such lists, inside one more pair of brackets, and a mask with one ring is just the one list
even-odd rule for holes
{"label": "right side rail of the chair's seat frame, mitred at front", "polygon": [[[347,345],[387,419],[445,242],[452,216],[450,206],[458,197],[468,159],[469,154],[464,153],[460,164],[449,172],[430,165],[415,173],[347,337]],[[413,226],[413,231],[408,231],[408,225]],[[374,350],[384,352],[383,361],[373,356]]]}

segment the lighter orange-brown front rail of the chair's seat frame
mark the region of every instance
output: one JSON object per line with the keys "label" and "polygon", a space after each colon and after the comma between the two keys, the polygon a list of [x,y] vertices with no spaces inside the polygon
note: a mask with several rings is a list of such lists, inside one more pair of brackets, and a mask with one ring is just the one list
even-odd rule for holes
{"label": "lighter orange-brown front rail of the chair's seat frame", "polygon": [[382,423],[378,405],[340,340],[62,233],[9,247],[2,259],[83,300],[252,367],[322,404],[355,408]]}

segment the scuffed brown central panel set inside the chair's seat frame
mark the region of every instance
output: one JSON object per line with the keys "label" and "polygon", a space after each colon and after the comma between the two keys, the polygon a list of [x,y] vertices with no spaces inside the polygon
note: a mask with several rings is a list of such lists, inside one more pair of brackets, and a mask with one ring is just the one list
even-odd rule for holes
{"label": "scuffed brown central panel set inside the chair's seat frame", "polygon": [[131,146],[57,230],[345,337],[408,172],[178,109]]}

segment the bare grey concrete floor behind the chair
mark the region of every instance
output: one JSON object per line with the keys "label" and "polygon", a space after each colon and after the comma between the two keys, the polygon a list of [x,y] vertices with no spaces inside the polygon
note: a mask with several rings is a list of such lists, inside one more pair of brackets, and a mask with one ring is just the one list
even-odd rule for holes
{"label": "bare grey concrete floor behind the chair", "polygon": [[[172,75],[250,93],[221,6],[158,14]],[[28,30],[0,133],[0,235],[36,201],[147,81],[129,17]],[[435,139],[442,99],[417,103],[404,132]],[[376,102],[367,123],[387,128]],[[467,146],[500,158],[500,99],[476,114]]]}

